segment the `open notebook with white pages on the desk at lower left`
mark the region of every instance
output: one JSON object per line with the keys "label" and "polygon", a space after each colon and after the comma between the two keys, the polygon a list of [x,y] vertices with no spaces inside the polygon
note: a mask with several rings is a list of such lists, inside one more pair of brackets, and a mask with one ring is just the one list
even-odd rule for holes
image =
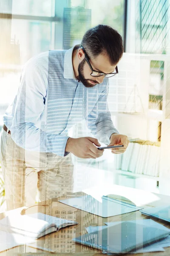
{"label": "open notebook with white pages on the desk at lower left", "polygon": [[74,224],[78,223],[38,212],[30,215],[7,216],[0,220],[0,230],[32,238],[40,238],[51,232],[58,231],[62,227]]}

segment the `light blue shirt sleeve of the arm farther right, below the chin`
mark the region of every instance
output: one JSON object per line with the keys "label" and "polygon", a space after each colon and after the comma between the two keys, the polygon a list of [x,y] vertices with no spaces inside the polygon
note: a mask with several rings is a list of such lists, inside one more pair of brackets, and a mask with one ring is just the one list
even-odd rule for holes
{"label": "light blue shirt sleeve of the arm farther right, below the chin", "polygon": [[99,94],[93,110],[88,114],[86,124],[91,133],[106,145],[110,144],[111,134],[119,134],[113,125],[111,113],[108,109],[108,79],[105,89]]}

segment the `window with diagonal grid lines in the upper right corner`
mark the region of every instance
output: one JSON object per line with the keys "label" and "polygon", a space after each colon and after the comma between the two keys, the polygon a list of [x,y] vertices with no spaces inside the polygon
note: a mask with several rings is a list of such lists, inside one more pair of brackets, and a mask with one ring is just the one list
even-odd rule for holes
{"label": "window with diagonal grid lines in the upper right corner", "polygon": [[168,51],[167,30],[170,6],[166,2],[159,0],[141,2],[141,53],[165,54]]}

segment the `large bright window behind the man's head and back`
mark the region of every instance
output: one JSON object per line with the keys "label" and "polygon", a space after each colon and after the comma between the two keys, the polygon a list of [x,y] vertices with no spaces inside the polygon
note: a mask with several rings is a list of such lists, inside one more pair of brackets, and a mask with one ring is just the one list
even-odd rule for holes
{"label": "large bright window behind the man's head and back", "polygon": [[[5,9],[6,0],[1,2]],[[123,35],[123,11],[124,0],[105,0],[105,5],[102,0],[13,0],[10,9],[6,10],[12,13],[12,19],[4,19],[6,32],[0,35],[0,38],[4,38],[0,54],[11,52],[10,56],[13,57],[0,58],[0,64],[12,64],[18,71],[14,68],[13,72],[9,72],[7,67],[5,73],[3,70],[3,77],[0,74],[3,88],[0,125],[3,123],[3,108],[7,108],[17,93],[20,65],[40,52],[68,49],[80,43],[85,31],[99,23],[113,26]]]}

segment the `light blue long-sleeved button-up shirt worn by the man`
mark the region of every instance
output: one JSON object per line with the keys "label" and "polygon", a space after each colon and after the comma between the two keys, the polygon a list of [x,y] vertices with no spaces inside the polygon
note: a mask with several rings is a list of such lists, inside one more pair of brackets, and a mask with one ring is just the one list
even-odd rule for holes
{"label": "light blue long-sleeved button-up shirt worn by the man", "polygon": [[68,129],[83,119],[106,145],[119,133],[108,110],[108,79],[92,88],[75,79],[73,49],[43,52],[23,67],[17,96],[3,117],[20,147],[65,156]]}

